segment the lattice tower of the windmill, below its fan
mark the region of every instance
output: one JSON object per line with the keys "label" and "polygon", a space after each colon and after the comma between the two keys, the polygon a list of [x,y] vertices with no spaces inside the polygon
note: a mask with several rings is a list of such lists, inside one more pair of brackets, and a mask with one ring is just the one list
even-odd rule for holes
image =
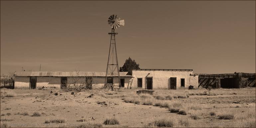
{"label": "lattice tower of the windmill, below its fan", "polygon": [[[107,69],[106,69],[104,88],[111,87],[111,89],[113,90],[115,86],[118,86],[119,88],[121,88],[118,59],[117,59],[117,52],[116,52],[116,42],[115,42],[115,35],[117,35],[118,33],[115,33],[115,29],[112,28],[111,33],[108,33],[108,34],[110,34],[111,37],[110,37],[110,46],[109,46],[108,63],[107,63]],[[112,84],[107,83],[108,78],[112,79]],[[114,84],[115,81],[118,82],[117,85]]]}

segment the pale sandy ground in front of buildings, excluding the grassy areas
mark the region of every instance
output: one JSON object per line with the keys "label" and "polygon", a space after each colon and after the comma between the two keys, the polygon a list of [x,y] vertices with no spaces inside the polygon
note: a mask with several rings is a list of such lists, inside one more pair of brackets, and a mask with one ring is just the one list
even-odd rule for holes
{"label": "pale sandy ground in front of buildings, excluding the grassy areas", "polygon": [[[77,122],[81,118],[90,119],[94,122],[103,123],[106,117],[115,116],[119,125],[103,125],[102,127],[143,127],[149,119],[155,117],[172,117],[180,119],[187,115],[178,115],[170,113],[167,108],[152,106],[152,105],[138,105],[133,103],[125,103],[120,95],[123,92],[115,91],[113,95],[102,97],[94,93],[92,98],[87,98],[91,94],[90,91],[64,92],[57,89],[51,90],[29,90],[29,89],[13,89],[16,97],[1,97],[0,110],[1,114],[11,113],[11,115],[1,116],[1,119],[11,119],[12,121],[5,121],[9,127],[70,127],[78,125],[82,122]],[[135,91],[135,90],[123,90]],[[178,91],[178,90],[177,90]],[[255,91],[255,88],[254,88]],[[54,95],[58,92],[58,95]],[[186,99],[179,99],[186,103],[227,103],[233,104],[233,101],[240,102],[245,107],[229,107],[227,109],[237,109],[238,111],[247,111],[248,107],[255,105],[255,92],[248,95],[217,95],[217,96],[198,96],[193,95]],[[97,101],[105,101],[107,105],[98,104]],[[248,106],[246,106],[248,105]],[[6,110],[6,108],[10,108]],[[210,111],[210,110],[209,110]],[[15,115],[15,113],[28,112],[29,115]],[[34,112],[44,113],[41,116],[32,116]],[[64,124],[45,124],[47,119],[64,119]],[[193,122],[196,127],[214,127],[213,123],[228,122],[229,120],[216,120],[212,118],[203,118]],[[3,123],[3,122],[1,122]],[[226,127],[226,126],[221,126]]]}

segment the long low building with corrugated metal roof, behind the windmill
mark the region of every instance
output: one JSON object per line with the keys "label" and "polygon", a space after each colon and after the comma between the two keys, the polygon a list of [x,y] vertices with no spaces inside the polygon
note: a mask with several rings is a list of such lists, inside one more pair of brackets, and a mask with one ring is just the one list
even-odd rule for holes
{"label": "long low building with corrugated metal roof, behind the windmill", "polygon": [[[128,72],[120,72],[121,86],[127,87],[132,78],[127,75]],[[114,72],[114,79],[108,78],[108,83],[118,83],[117,73]],[[29,89],[44,87],[56,87],[64,89],[70,79],[79,78],[78,82],[82,83],[88,78],[93,79],[93,87],[104,86],[106,72],[85,72],[85,71],[17,71],[15,72],[15,88],[23,87]]]}

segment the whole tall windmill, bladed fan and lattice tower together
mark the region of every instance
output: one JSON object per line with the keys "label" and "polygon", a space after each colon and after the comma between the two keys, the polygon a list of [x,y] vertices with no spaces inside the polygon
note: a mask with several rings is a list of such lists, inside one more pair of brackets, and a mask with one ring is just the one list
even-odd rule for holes
{"label": "whole tall windmill, bladed fan and lattice tower together", "polygon": [[[113,87],[115,86],[121,88],[115,41],[115,35],[117,35],[118,33],[115,33],[115,29],[119,28],[121,25],[124,26],[124,20],[121,20],[117,15],[111,15],[108,18],[108,24],[111,26],[111,33],[108,33],[111,36],[104,87],[111,88],[113,90]],[[118,85],[114,84],[114,80],[118,82]]]}

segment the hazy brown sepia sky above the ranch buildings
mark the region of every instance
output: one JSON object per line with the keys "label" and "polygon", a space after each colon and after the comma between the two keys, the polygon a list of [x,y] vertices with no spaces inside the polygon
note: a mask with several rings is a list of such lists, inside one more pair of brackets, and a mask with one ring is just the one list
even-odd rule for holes
{"label": "hazy brown sepia sky above the ranch buildings", "polygon": [[110,15],[119,66],[255,73],[255,1],[2,1],[1,74],[105,71]]}

